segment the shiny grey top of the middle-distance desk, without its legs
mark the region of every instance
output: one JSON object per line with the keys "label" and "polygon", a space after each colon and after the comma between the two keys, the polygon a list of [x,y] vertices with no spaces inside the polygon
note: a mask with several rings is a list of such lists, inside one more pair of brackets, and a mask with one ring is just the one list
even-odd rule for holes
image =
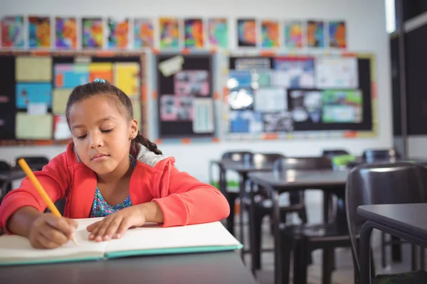
{"label": "shiny grey top of the middle-distance desk, without its legs", "polygon": [[249,173],[248,177],[261,186],[300,190],[309,187],[344,186],[347,182],[347,173],[347,170],[284,170]]}

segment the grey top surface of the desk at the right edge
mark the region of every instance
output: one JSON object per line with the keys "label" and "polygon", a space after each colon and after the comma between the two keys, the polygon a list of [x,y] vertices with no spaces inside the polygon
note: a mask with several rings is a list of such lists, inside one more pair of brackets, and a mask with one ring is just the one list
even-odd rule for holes
{"label": "grey top surface of the desk at the right edge", "polygon": [[357,213],[376,223],[427,239],[427,203],[362,205]]}

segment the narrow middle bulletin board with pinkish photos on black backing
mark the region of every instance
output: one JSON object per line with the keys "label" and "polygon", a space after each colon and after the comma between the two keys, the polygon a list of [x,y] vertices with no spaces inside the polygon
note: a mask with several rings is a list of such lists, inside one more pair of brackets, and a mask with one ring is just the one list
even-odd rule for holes
{"label": "narrow middle bulletin board with pinkish photos on black backing", "polygon": [[216,128],[215,53],[154,54],[154,139],[212,141]]}

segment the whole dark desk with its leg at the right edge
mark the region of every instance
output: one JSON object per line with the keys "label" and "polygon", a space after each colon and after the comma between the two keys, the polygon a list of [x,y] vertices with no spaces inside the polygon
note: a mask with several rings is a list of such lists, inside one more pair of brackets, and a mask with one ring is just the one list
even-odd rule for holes
{"label": "whole dark desk with its leg at the right edge", "polygon": [[360,283],[371,283],[372,229],[427,248],[427,203],[362,205],[357,213],[366,218],[360,231]]}

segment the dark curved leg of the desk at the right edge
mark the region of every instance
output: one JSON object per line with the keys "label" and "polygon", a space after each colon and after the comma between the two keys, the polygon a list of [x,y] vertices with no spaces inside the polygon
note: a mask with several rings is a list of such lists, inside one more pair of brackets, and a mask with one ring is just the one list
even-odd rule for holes
{"label": "dark curved leg of the desk at the right edge", "polygon": [[373,227],[367,221],[360,230],[360,283],[371,283],[371,233]]}

